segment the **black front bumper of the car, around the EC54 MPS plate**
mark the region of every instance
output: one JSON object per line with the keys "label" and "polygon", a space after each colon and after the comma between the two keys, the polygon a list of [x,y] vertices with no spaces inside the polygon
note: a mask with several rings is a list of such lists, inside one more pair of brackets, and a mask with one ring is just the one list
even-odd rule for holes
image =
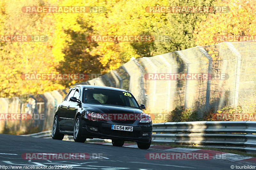
{"label": "black front bumper of the car, around the EC54 MPS plate", "polygon": [[[138,124],[137,126],[122,124],[125,126],[133,126],[133,131],[119,131],[112,130],[111,125],[116,123],[108,123],[106,121],[92,121],[82,119],[82,136],[86,138],[100,138],[100,139],[119,139],[124,141],[145,142],[149,143],[152,138],[152,123]],[[93,131],[91,128],[97,128],[98,131]],[[147,136],[142,136],[143,133],[148,133]]]}

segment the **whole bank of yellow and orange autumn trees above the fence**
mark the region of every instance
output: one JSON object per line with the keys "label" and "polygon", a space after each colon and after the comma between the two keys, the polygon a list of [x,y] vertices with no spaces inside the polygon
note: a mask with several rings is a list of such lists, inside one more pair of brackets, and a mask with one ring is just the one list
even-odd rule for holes
{"label": "whole bank of yellow and orange autumn trees above the fence", "polygon": [[[69,81],[65,84],[59,81],[25,81],[20,78],[23,73],[58,74],[73,69],[80,73],[90,73],[96,72],[97,68],[98,72],[104,74],[120,67],[132,57],[141,57],[138,50],[145,53],[148,50],[148,45],[136,48],[138,43],[134,47],[133,42],[88,42],[86,37],[89,35],[154,35],[156,32],[165,35],[166,32],[171,32],[173,42],[170,46],[168,44],[164,46],[163,49],[169,49],[175,44],[177,48],[184,49],[188,45],[194,45],[193,37],[191,39],[186,37],[192,32],[196,45],[202,46],[218,43],[212,39],[214,35],[254,35],[256,32],[253,0],[219,0],[215,6],[229,6],[230,12],[209,13],[208,16],[145,11],[147,6],[175,6],[182,3],[185,2],[179,0],[1,0],[0,35],[47,35],[49,39],[46,42],[0,42],[0,97],[64,89],[64,86],[77,82]],[[23,6],[43,5],[105,6],[107,12],[23,13],[20,10]],[[193,25],[182,23],[184,19],[189,22],[198,17],[201,17],[202,22],[195,22],[195,30]],[[184,32],[187,33],[186,36],[183,36]],[[181,46],[184,43],[187,45]],[[154,45],[162,47],[162,44]],[[159,51],[148,53],[148,56],[161,54]],[[214,59],[214,54],[212,57]],[[60,66],[62,70],[59,69]]]}

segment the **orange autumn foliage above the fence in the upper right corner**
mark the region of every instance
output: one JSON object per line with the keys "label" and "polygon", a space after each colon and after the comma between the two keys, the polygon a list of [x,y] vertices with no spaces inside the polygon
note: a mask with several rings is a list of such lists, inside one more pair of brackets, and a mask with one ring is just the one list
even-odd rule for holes
{"label": "orange autumn foliage above the fence in the upper right corner", "polygon": [[253,0],[224,0],[218,6],[229,6],[228,13],[208,14],[204,21],[196,23],[194,36],[196,45],[205,46],[219,43],[215,35],[254,35],[256,5]]}

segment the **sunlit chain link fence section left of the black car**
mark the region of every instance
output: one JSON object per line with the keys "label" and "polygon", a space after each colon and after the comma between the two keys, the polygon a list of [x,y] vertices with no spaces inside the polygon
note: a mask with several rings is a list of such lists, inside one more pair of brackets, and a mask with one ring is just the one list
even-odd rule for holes
{"label": "sunlit chain link fence section left of the black car", "polygon": [[24,134],[49,130],[58,103],[66,91],[46,92],[27,97],[0,98],[0,131]]}

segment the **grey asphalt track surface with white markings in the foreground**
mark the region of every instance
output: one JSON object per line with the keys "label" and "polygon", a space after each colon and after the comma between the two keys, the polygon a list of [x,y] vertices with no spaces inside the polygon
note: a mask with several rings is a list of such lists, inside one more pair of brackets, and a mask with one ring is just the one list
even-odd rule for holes
{"label": "grey asphalt track surface with white markings in the foreground", "polygon": [[[146,153],[163,153],[153,149],[117,147],[91,143],[78,143],[44,138],[33,138],[0,134],[1,166],[54,166],[72,165],[72,169],[231,169],[231,165],[243,164],[225,160],[148,160]],[[22,153],[100,153],[100,159],[90,157],[87,160],[25,160]],[[56,167],[57,168],[57,167]],[[235,168],[236,169],[236,168]]]}

